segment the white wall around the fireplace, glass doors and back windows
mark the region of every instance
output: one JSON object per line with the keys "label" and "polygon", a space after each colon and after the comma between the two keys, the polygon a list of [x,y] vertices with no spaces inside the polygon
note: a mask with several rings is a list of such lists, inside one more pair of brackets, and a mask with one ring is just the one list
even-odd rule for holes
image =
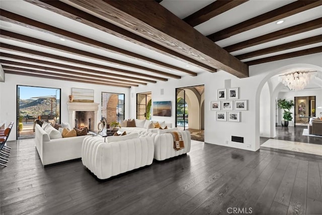
{"label": "white wall around the fireplace, glass doors and back windows", "polygon": [[[101,92],[110,93],[124,93],[125,104],[129,105],[129,91],[128,88],[110,87],[102,85],[93,85],[77,82],[67,82],[60,80],[50,80],[44,78],[26,77],[6,74],[6,82],[0,83],[0,119],[7,122],[15,121],[14,130],[16,130],[16,99],[17,99],[17,85],[35,86],[35,87],[50,87],[61,89],[61,121],[68,121],[67,105],[68,95],[71,94],[71,88],[84,88],[94,89],[94,102],[101,104]],[[128,118],[130,110],[125,107],[125,117]],[[101,120],[101,105],[99,106],[98,119],[96,122]],[[97,127],[97,125],[93,125]],[[16,132],[11,132],[9,140],[16,139]]]}

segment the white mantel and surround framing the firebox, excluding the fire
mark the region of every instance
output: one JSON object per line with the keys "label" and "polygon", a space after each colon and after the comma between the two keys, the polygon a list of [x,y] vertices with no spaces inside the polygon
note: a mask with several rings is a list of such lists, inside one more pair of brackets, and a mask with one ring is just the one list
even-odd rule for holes
{"label": "white mantel and surround framing the firebox, excluding the fire", "polygon": [[68,123],[71,127],[75,125],[75,112],[76,111],[94,111],[94,119],[92,119],[91,124],[94,128],[97,120],[97,112],[99,110],[99,103],[85,103],[85,102],[67,102],[68,109]]}

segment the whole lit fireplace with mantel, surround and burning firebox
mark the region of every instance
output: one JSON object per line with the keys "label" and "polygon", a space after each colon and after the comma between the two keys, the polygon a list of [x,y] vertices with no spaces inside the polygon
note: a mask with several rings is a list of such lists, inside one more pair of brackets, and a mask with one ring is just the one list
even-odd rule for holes
{"label": "whole lit fireplace with mantel, surround and burning firebox", "polygon": [[91,127],[91,130],[95,130],[99,109],[98,103],[67,102],[67,108],[69,115],[68,123],[71,127],[79,129]]}

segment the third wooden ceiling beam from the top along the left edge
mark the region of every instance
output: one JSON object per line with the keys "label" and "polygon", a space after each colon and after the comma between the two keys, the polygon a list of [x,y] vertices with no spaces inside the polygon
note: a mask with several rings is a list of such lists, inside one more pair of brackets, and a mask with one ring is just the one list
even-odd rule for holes
{"label": "third wooden ceiling beam from the top along the left edge", "polygon": [[[72,58],[62,57],[62,56],[58,56],[58,55],[54,55],[54,54],[41,52],[41,51],[35,51],[32,49],[22,48],[19,46],[9,45],[6,43],[0,43],[0,48],[3,50],[7,50],[7,51],[15,51],[15,52],[19,52],[22,54],[28,54],[30,56],[44,57],[48,60],[54,59],[54,60],[59,60],[59,61],[67,62],[67,63],[74,63],[74,64],[79,64],[79,65],[91,66],[91,67],[95,67],[95,68],[101,68],[101,69],[104,69],[107,71],[117,71],[118,73],[122,73],[122,74],[130,74],[130,75],[135,75],[135,76],[140,76],[140,77],[146,77],[149,79],[155,79],[155,80],[159,80],[159,81],[168,81],[168,79],[165,79],[162,77],[151,76],[151,75],[136,73],[135,71],[128,71],[128,70],[114,68],[114,67],[105,66],[105,65],[101,65],[101,64],[96,64],[96,63],[86,62],[86,61],[82,61],[82,60],[76,60],[76,59],[72,59]],[[100,72],[101,71],[97,71],[97,73],[100,73]],[[113,75],[115,77],[121,76],[120,74],[113,74]],[[156,81],[153,81],[153,80],[142,79],[142,78],[137,78],[137,77],[133,77],[132,79],[138,80],[138,81],[143,81],[143,82],[156,83]]]}

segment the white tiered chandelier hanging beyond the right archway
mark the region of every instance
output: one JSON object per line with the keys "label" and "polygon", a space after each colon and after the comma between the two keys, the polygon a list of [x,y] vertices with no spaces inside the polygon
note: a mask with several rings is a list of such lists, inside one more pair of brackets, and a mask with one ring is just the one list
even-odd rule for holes
{"label": "white tiered chandelier hanging beyond the right archway", "polygon": [[279,81],[287,86],[290,90],[303,90],[315,74],[313,71],[295,71],[279,76]]}

